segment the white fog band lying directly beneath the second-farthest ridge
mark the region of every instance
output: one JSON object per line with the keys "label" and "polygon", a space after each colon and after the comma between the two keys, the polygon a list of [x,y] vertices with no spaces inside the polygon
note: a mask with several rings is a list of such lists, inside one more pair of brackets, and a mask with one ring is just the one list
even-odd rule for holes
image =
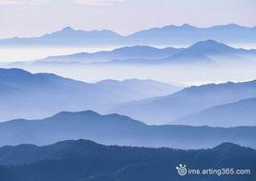
{"label": "white fog band lying directly beneath the second-farthest ridge", "polygon": [[[4,66],[11,68],[10,66]],[[96,82],[103,79],[154,79],[166,83],[202,85],[227,81],[247,81],[256,79],[256,63],[250,65],[226,65],[210,67],[193,66],[15,66],[31,72],[53,72],[55,74]]]}

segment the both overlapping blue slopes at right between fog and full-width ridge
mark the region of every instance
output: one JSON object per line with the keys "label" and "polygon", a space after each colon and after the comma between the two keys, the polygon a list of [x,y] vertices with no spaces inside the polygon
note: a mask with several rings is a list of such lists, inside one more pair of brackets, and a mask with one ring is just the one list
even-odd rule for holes
{"label": "both overlapping blue slopes at right between fog and full-width ridge", "polygon": [[110,112],[125,114],[148,124],[251,126],[256,125],[253,120],[255,101],[241,100],[255,97],[255,80],[208,84],[185,88],[167,96],[123,103]]}

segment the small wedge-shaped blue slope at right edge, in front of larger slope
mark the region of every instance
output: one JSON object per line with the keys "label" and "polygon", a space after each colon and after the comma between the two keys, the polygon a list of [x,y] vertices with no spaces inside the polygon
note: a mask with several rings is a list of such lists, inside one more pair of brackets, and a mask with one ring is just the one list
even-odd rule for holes
{"label": "small wedge-shaped blue slope at right edge, in front of larger slope", "polygon": [[179,125],[208,125],[213,127],[255,126],[256,98],[210,108],[181,118],[173,124]]}

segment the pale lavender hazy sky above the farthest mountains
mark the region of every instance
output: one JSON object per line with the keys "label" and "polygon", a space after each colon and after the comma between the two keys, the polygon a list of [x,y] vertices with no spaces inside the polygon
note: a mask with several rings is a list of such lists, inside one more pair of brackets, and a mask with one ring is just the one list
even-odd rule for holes
{"label": "pale lavender hazy sky above the farthest mountains", "polygon": [[0,38],[79,30],[136,30],[236,23],[256,26],[255,0],[0,0]]}

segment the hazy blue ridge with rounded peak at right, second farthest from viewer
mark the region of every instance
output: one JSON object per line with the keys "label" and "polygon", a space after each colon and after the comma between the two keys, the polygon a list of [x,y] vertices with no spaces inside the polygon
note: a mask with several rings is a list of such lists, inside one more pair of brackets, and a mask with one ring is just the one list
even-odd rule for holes
{"label": "hazy blue ridge with rounded peak at right, second farthest from viewer", "polygon": [[[200,41],[188,48],[157,49],[147,46],[123,47],[110,51],[94,53],[80,52],[75,54],[51,56],[33,62],[43,64],[96,64],[96,65],[151,65],[151,64],[204,64],[239,60],[256,57],[256,50],[235,49],[215,40]],[[216,60],[216,61],[215,61]]]}

